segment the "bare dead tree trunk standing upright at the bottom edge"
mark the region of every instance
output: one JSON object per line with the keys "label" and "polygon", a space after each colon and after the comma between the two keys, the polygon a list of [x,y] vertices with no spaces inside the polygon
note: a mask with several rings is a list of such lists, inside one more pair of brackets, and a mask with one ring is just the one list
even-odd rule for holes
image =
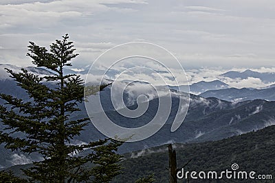
{"label": "bare dead tree trunk standing upright at the bottom edge", "polygon": [[177,156],[172,144],[168,145],[169,152],[169,182],[177,183]]}

